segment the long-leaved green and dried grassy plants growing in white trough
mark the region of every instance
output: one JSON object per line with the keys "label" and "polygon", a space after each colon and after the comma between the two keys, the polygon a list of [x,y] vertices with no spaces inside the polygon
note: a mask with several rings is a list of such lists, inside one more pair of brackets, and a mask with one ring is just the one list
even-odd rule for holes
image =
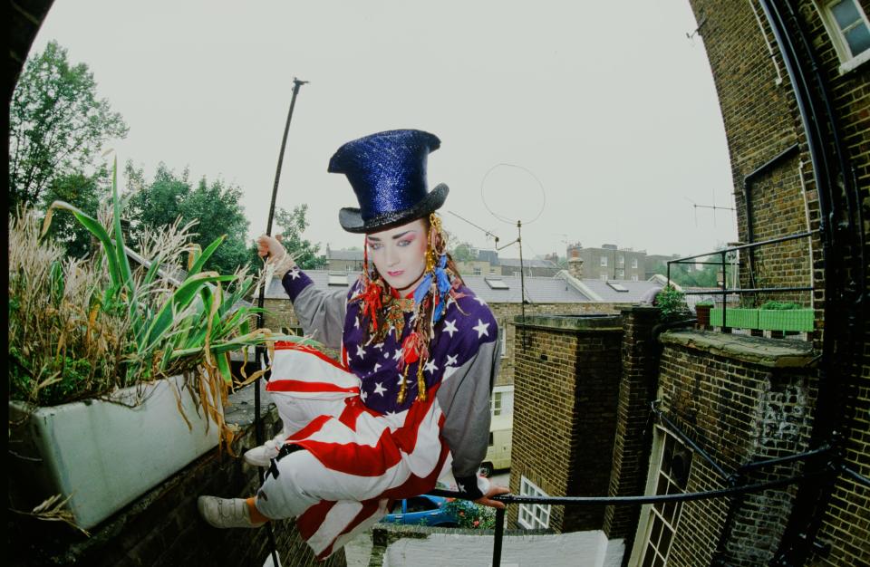
{"label": "long-leaved green and dried grassy plants growing in white trough", "polygon": [[[73,214],[100,242],[99,251],[85,261],[64,258],[41,239],[53,214]],[[114,176],[111,202],[97,218],[60,201],[49,207],[42,232],[33,211],[11,218],[10,399],[40,406],[117,401],[111,394],[118,389],[185,374],[186,389],[229,447],[233,432],[220,410],[232,386],[229,353],[300,338],[253,328],[252,316],[262,310],[245,297],[262,276],[204,272],[224,238],[199,250],[189,245],[191,227],[149,231],[141,253],[131,251]],[[140,265],[131,265],[130,256]]]}

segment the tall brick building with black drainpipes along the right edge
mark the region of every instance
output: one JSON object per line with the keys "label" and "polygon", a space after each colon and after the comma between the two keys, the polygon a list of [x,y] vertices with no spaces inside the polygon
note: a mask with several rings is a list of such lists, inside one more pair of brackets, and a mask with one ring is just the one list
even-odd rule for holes
{"label": "tall brick building with black drainpipes along the right edge", "polygon": [[[719,93],[741,241],[813,231],[741,252],[744,287],[816,309],[818,389],[809,447],[834,443],[844,472],[797,491],[783,564],[870,562],[870,5],[865,0],[690,0]],[[863,39],[862,39],[863,38]],[[747,298],[749,299],[749,298]],[[843,437],[837,437],[841,435]]]}

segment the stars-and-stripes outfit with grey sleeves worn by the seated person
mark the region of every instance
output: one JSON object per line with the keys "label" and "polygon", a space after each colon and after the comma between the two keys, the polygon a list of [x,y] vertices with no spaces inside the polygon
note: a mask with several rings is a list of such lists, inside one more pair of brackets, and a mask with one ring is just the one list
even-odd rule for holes
{"label": "stars-and-stripes outfit with grey sleeves worn by the seated person", "polygon": [[399,370],[414,312],[404,312],[401,334],[366,343],[361,305],[351,301],[362,282],[325,293],[294,269],[282,283],[305,332],[340,348],[342,363],[296,343],[276,345],[266,389],[284,421],[285,447],[304,450],[273,463],[257,509],[274,519],[295,517],[304,540],[325,559],[387,514],[392,501],[429,491],[450,470],[460,492],[485,495],[489,483],[477,471],[500,358],[486,303],[465,286],[449,299],[423,366],[423,397],[411,378],[418,363],[406,370],[408,378]]}

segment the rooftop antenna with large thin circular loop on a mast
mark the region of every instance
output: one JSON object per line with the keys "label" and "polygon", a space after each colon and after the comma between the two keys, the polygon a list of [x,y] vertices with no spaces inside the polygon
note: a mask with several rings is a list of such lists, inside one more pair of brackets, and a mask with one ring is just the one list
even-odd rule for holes
{"label": "rooftop antenna with large thin circular loop on a mast", "polygon": [[[487,181],[489,180],[489,185]],[[499,203],[501,210],[493,210],[489,206],[487,199],[487,187],[490,194],[493,187],[500,192],[499,198],[490,197],[493,203]],[[514,198],[506,198],[505,191],[513,187],[517,192]],[[508,196],[509,197],[509,196]],[[523,263],[523,225],[534,223],[544,212],[546,205],[546,194],[544,193],[544,184],[536,177],[534,173],[527,168],[517,166],[512,163],[498,163],[489,168],[487,173],[480,181],[480,199],[483,201],[483,206],[487,207],[489,214],[496,219],[508,225],[517,226],[517,238],[508,242],[506,245],[498,246],[496,250],[502,250],[509,245],[516,244],[519,249],[519,309],[520,321],[526,322],[526,266]],[[540,206],[535,207],[535,203],[539,202]],[[517,210],[509,210],[509,204],[513,203]],[[506,210],[507,209],[507,210]],[[525,327],[522,333],[523,349],[526,349],[526,331]]]}

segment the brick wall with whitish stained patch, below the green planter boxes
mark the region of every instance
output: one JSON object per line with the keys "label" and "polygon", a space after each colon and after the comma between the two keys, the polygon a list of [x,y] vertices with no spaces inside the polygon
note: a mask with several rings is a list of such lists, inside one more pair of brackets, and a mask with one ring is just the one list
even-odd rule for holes
{"label": "brick wall with whitish stained patch, below the green planter boxes", "polygon": [[[662,335],[658,398],[664,414],[727,473],[751,461],[807,450],[817,382],[814,372],[800,365],[811,360],[812,352],[778,341],[791,350],[782,355],[797,357],[793,363],[798,365],[779,368],[779,355],[763,360],[753,354],[752,349],[764,348],[769,340],[721,337],[703,332]],[[722,340],[730,346],[723,348]],[[790,464],[753,473],[750,479],[776,480],[800,470],[800,465]],[[692,456],[686,492],[727,485],[699,454]],[[684,503],[668,564],[767,564],[778,549],[795,490],[792,485],[747,495],[736,499],[733,509],[726,498]]]}

